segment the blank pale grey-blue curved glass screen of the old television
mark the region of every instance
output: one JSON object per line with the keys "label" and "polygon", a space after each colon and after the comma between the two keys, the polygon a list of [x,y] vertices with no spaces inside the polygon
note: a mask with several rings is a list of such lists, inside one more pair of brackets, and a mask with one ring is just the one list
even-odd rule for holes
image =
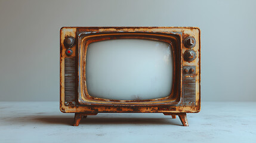
{"label": "blank pale grey-blue curved glass screen of the old television", "polygon": [[173,79],[169,43],[144,39],[113,39],[88,45],[87,91],[111,100],[168,97]]}

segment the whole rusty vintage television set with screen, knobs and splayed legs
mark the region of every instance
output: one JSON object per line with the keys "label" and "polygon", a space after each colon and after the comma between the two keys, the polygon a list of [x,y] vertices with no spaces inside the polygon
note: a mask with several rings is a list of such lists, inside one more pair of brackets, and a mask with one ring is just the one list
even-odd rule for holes
{"label": "whole rusty vintage television set with screen, knobs and splayed legs", "polygon": [[188,126],[201,109],[198,27],[62,27],[60,110],[164,113]]}

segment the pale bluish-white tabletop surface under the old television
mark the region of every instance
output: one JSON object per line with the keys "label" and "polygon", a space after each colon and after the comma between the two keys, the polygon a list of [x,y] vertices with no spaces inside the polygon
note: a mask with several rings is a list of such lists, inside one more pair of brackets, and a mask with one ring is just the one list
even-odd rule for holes
{"label": "pale bluish-white tabletop surface under the old television", "polygon": [[164,114],[102,113],[71,126],[58,102],[0,102],[0,142],[256,142],[256,102],[202,102],[188,127]]}

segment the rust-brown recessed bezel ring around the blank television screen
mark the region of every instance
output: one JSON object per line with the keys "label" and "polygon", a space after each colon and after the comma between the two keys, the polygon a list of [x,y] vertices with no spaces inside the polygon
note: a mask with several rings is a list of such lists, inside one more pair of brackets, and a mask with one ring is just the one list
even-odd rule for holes
{"label": "rust-brown recessed bezel ring around the blank television screen", "polygon": [[[88,94],[86,84],[86,56],[88,45],[92,42],[111,39],[148,39],[167,42],[172,47],[173,55],[173,81],[172,91],[168,97],[151,100],[110,100],[92,97]],[[82,105],[152,105],[152,104],[177,104],[181,100],[181,36],[176,33],[147,33],[147,32],[100,32],[78,33],[78,102]]]}

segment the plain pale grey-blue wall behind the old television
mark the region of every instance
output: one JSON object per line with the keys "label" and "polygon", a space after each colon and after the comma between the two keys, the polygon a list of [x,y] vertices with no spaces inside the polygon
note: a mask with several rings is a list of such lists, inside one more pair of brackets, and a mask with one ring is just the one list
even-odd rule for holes
{"label": "plain pale grey-blue wall behind the old television", "polygon": [[256,101],[256,1],[2,1],[0,101],[59,100],[63,26],[196,26],[202,101]]}

